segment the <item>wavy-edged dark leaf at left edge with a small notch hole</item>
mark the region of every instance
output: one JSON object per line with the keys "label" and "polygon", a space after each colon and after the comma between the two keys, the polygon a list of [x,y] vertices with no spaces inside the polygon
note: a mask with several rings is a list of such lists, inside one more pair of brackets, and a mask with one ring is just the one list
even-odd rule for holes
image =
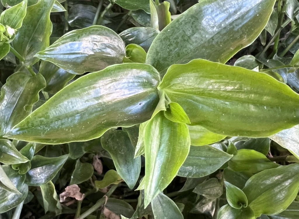
{"label": "wavy-edged dark leaf at left edge with a small notch hole", "polygon": [[7,78],[0,96],[0,136],[31,113],[33,104],[39,100],[39,91],[45,86],[41,74],[16,72]]}

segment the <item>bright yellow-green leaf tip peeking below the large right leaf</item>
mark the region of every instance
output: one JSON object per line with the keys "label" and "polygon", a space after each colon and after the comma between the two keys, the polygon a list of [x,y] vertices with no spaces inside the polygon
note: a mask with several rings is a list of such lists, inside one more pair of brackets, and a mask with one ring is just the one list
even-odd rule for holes
{"label": "bright yellow-green leaf tip peeking below the large right leaf", "polygon": [[196,126],[187,125],[187,127],[189,129],[191,145],[194,145],[194,146],[213,144],[213,143],[220,141],[226,137],[226,135],[220,135],[220,134],[216,134],[214,132],[210,132],[208,129],[206,129],[202,126],[199,126],[199,125],[196,125]]}

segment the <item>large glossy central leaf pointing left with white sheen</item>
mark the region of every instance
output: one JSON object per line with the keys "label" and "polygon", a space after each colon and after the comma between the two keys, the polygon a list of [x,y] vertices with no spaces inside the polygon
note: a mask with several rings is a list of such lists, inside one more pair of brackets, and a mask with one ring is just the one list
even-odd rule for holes
{"label": "large glossy central leaf pointing left with white sheen", "polygon": [[159,73],[126,63],[80,77],[60,90],[6,136],[61,144],[98,138],[112,127],[150,119],[158,104]]}

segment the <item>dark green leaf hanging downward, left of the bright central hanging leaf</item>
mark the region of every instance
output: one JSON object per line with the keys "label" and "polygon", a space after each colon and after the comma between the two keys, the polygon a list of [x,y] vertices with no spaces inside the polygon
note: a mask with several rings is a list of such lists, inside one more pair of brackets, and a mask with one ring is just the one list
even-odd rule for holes
{"label": "dark green leaf hanging downward, left of the bright central hanging leaf", "polygon": [[111,155],[120,177],[133,189],[140,175],[141,158],[134,159],[135,149],[128,133],[109,130],[101,137],[101,143]]}

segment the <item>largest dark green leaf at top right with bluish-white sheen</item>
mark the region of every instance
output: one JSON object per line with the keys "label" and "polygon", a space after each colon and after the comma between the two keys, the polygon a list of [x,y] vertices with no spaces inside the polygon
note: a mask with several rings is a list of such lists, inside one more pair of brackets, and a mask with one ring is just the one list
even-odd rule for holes
{"label": "largest dark green leaf at top right with bluish-white sheen", "polygon": [[172,64],[196,58],[225,63],[260,35],[274,3],[275,0],[200,1],[161,31],[147,53],[146,63],[161,75]]}

